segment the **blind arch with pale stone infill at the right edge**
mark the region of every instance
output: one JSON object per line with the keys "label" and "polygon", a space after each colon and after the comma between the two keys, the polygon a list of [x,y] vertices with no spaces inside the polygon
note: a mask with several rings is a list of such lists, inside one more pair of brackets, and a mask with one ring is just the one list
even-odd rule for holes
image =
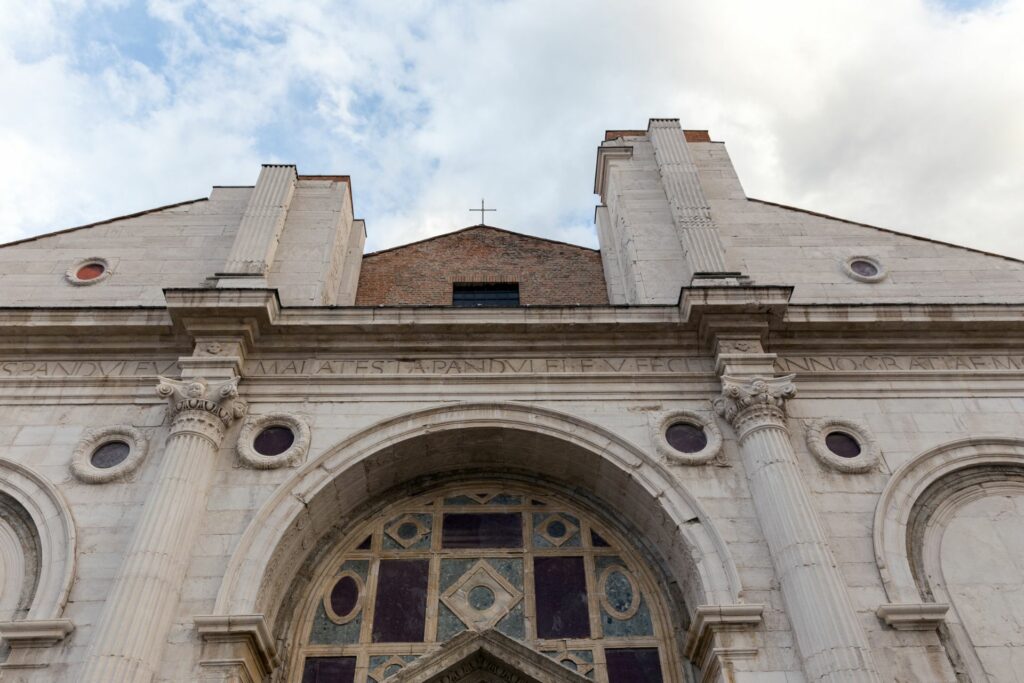
{"label": "blind arch with pale stone infill at the right edge", "polygon": [[1012,677],[1008,643],[1024,630],[1015,638],[988,623],[1016,611],[1010,596],[1024,587],[1022,519],[1024,439],[1015,437],[962,439],[918,456],[893,474],[876,509],[874,553],[890,603],[948,609],[939,635],[972,681]]}

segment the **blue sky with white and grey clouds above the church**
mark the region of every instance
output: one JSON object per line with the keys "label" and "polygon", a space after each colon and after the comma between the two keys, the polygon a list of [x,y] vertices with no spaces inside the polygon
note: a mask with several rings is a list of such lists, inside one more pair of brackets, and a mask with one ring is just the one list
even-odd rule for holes
{"label": "blue sky with white and grey clouds above the church", "polygon": [[751,197],[1024,257],[1024,0],[0,0],[0,240],[352,176],[368,248],[596,246],[608,128],[678,117]]}

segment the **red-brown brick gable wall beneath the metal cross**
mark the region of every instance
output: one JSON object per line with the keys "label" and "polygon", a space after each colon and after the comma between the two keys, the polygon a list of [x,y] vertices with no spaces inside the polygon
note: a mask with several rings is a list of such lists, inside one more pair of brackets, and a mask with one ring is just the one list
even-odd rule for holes
{"label": "red-brown brick gable wall beneath the metal cross", "polygon": [[453,283],[519,283],[529,305],[608,303],[599,252],[477,226],[364,256],[355,305],[446,306]]}

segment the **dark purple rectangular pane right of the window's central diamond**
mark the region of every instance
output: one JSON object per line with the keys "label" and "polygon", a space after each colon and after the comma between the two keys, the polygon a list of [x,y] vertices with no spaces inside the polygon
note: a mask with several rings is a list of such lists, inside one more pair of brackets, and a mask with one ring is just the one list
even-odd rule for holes
{"label": "dark purple rectangular pane right of the window's central diamond", "polygon": [[535,557],[534,587],[538,638],[590,638],[582,557]]}

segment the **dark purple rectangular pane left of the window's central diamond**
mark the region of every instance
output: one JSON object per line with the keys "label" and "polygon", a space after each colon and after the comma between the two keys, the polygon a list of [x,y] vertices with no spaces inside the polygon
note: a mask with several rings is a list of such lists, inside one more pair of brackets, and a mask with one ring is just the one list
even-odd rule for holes
{"label": "dark purple rectangular pane left of the window's central diamond", "polygon": [[430,560],[381,560],[374,602],[375,643],[422,643]]}

